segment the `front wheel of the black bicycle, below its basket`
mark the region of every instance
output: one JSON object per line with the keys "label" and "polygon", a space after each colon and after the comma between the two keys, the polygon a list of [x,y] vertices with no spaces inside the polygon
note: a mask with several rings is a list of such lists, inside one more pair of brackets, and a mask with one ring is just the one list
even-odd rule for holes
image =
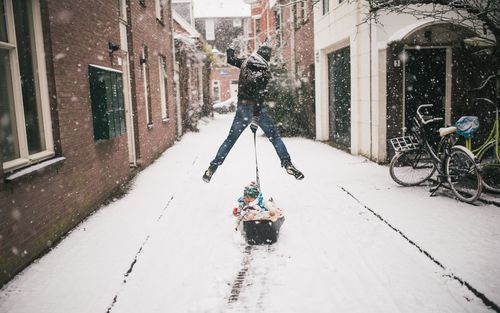
{"label": "front wheel of the black bicycle, below its basket", "polygon": [[428,180],[436,171],[429,153],[419,148],[397,153],[391,160],[389,172],[392,179],[402,186],[417,186]]}

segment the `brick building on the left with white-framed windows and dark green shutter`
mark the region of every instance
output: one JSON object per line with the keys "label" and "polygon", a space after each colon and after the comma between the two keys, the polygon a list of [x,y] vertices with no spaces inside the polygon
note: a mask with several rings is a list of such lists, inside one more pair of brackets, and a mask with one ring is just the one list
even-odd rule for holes
{"label": "brick building on the left with white-framed windows and dark green shutter", "polygon": [[171,25],[170,1],[0,0],[0,285],[173,144]]}

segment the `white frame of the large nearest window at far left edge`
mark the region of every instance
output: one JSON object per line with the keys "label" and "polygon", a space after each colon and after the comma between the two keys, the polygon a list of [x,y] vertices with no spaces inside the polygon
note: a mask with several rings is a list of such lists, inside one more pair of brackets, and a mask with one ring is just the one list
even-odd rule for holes
{"label": "white frame of the large nearest window at far left edge", "polygon": [[[0,49],[9,50],[9,63],[12,77],[12,89],[14,96],[14,106],[16,114],[16,128],[17,140],[19,143],[19,158],[7,162],[3,162],[2,167],[4,171],[11,171],[21,167],[29,166],[33,163],[51,158],[55,155],[54,140],[52,137],[52,121],[50,118],[50,100],[47,84],[47,69],[45,66],[45,48],[43,44],[43,31],[42,31],[42,17],[40,13],[39,0],[31,1],[31,9],[33,15],[31,16],[34,29],[34,40],[36,50],[36,62],[38,71],[38,88],[37,92],[40,93],[40,114],[43,123],[43,139],[45,141],[45,150],[38,153],[29,154],[28,141],[26,135],[26,126],[24,119],[24,107],[22,100],[21,89],[21,74],[19,69],[16,45],[16,32],[14,24],[14,11],[12,7],[13,0],[4,0],[5,5],[5,18],[7,24],[7,37],[9,42],[0,42]],[[14,0],[15,1],[15,0]]]}

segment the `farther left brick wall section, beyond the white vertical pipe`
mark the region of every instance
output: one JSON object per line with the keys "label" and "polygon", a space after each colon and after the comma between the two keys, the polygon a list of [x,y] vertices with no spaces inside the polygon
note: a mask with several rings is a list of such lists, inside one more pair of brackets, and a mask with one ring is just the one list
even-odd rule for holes
{"label": "farther left brick wall section, beyond the white vertical pipe", "polygon": [[[135,92],[137,104],[137,132],[140,145],[139,159],[142,164],[150,163],[160,151],[172,145],[176,138],[176,108],[174,105],[173,79],[167,80],[168,121],[162,120],[160,106],[159,55],[167,60],[170,77],[173,78],[172,66],[172,31],[170,1],[164,4],[164,23],[161,24],[155,16],[154,1],[146,1],[143,7],[139,1],[130,2],[132,23],[132,45]],[[144,94],[144,79],[140,64],[142,49],[148,48],[149,94],[151,98],[151,115],[153,126],[148,127],[146,121],[146,99]]]}

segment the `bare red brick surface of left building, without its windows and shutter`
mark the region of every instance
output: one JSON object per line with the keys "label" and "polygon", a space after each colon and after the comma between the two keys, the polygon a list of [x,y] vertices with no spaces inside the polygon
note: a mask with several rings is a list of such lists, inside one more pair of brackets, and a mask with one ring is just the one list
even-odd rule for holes
{"label": "bare red brick surface of left building, without its windows and shutter", "polygon": [[[173,76],[170,1],[164,24],[155,17],[153,0],[127,0],[128,50],[131,53],[132,108],[139,164],[149,164],[176,138],[173,86],[168,82],[169,119],[162,120],[159,55]],[[0,183],[0,285],[87,217],[114,189],[127,181],[127,134],[95,141],[88,66],[122,70],[108,43],[120,44],[117,1],[40,0],[48,91],[56,157],[65,161],[11,182]],[[146,123],[142,47],[149,49],[153,126]],[[0,173],[2,174],[2,173]]]}

